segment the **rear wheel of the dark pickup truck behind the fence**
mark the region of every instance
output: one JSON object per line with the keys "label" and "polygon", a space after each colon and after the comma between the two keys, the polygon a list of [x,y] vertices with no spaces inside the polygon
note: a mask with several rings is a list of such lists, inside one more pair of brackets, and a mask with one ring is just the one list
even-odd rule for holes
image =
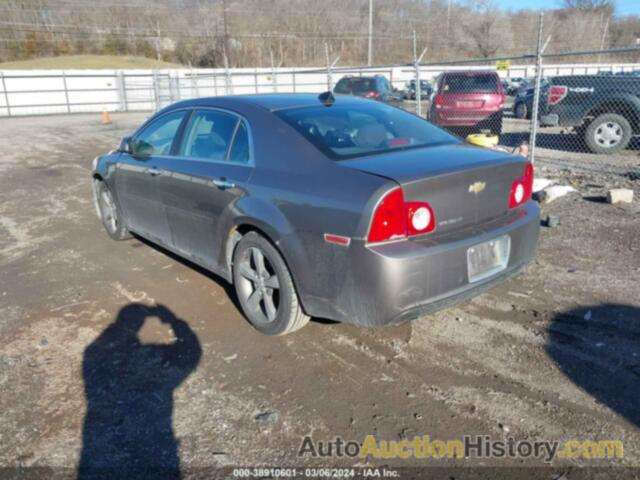
{"label": "rear wheel of the dark pickup truck behind the fence", "polygon": [[615,153],[624,150],[633,132],[629,121],[617,113],[603,113],[584,131],[584,141],[593,153]]}

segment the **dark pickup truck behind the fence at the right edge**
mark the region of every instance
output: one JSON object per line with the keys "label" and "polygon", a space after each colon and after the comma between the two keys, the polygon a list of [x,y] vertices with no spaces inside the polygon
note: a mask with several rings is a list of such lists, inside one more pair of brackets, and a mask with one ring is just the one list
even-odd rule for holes
{"label": "dark pickup truck behind the fence at the right edge", "polygon": [[640,135],[640,78],[554,77],[540,123],[573,127],[594,153],[623,150]]}

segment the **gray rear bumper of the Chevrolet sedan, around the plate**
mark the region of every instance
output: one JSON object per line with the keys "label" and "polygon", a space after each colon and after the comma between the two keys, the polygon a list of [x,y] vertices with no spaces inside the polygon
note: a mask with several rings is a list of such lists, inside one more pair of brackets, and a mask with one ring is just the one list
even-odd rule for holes
{"label": "gray rear bumper of the Chevrolet sedan, around the plate", "polygon": [[[499,219],[438,240],[403,240],[376,246],[352,244],[349,288],[338,298],[346,323],[377,326],[459,303],[493,287],[525,267],[535,255],[539,209],[528,202],[509,219]],[[485,280],[470,283],[467,249],[501,235],[511,238],[507,267]]]}

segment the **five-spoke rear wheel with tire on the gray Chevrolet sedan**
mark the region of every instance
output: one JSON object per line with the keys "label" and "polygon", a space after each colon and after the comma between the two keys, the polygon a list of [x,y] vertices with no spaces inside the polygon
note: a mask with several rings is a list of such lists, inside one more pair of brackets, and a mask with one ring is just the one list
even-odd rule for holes
{"label": "five-spoke rear wheel with tire on the gray Chevrolet sedan", "polygon": [[242,311],[260,332],[284,335],[309,322],[284,259],[256,232],[247,233],[238,242],[233,283]]}

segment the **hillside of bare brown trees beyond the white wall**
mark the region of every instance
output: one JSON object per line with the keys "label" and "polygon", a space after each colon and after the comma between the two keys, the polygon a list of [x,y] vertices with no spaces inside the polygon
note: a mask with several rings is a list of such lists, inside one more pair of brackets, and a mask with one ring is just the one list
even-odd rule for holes
{"label": "hillside of bare brown trees beyond the white wall", "polygon": [[[637,16],[614,0],[559,0],[547,14],[549,51],[629,46]],[[225,8],[226,4],[226,8]],[[135,54],[203,67],[322,66],[367,60],[369,0],[0,0],[0,60],[74,53]],[[411,31],[426,60],[489,58],[535,48],[537,14],[495,0],[374,0],[376,63],[409,63]],[[604,42],[603,42],[604,39]]]}

